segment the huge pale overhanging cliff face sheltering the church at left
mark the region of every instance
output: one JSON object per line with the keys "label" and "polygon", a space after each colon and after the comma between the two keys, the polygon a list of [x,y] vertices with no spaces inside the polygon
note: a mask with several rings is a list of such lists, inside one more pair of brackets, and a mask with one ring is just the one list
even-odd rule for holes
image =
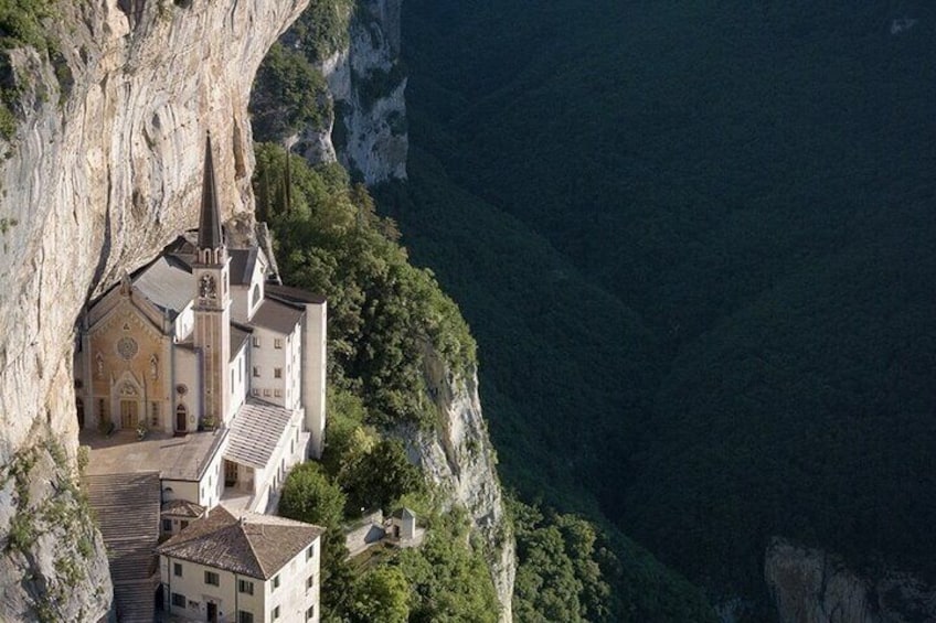
{"label": "huge pale overhanging cliff face sheltering the church at left", "polygon": [[75,318],[195,224],[206,130],[223,210],[249,221],[251,83],[306,1],[63,2],[57,66],[10,53],[22,95],[0,144],[0,620],[108,608],[102,541],[73,484]]}

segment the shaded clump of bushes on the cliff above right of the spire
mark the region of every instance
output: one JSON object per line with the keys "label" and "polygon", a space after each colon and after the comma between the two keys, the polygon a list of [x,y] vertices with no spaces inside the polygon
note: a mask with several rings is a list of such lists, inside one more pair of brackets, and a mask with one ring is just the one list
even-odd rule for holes
{"label": "shaded clump of bushes on the cliff above right of the spire", "polygon": [[257,69],[251,92],[251,122],[257,140],[276,141],[331,118],[321,72],[296,50],[274,43]]}

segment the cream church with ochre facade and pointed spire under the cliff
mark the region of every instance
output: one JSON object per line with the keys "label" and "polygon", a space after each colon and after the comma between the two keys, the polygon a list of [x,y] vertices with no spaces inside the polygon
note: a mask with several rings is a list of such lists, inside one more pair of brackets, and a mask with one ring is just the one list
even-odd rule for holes
{"label": "cream church with ochre facade and pointed spire under the cliff", "polygon": [[209,137],[198,230],[79,319],[78,426],[177,439],[159,465],[163,504],[238,498],[264,513],[289,469],[321,455],[326,301],[270,267],[260,246],[227,244]]}

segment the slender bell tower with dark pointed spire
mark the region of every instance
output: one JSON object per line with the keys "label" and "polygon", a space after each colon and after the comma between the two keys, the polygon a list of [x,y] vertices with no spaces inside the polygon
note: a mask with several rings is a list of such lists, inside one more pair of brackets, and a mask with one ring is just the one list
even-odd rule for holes
{"label": "slender bell tower with dark pointed spire", "polygon": [[192,272],[195,281],[194,345],[201,353],[202,418],[214,426],[226,422],[231,402],[231,283],[227,245],[214,182],[211,133],[205,138],[204,181],[199,243]]}

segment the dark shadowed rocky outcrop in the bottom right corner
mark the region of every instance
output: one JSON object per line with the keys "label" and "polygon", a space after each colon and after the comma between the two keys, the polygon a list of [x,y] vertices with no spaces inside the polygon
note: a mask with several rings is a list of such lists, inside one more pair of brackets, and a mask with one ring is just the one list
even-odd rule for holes
{"label": "dark shadowed rocky outcrop in the bottom right corner", "polygon": [[859,576],[820,549],[774,539],[764,563],[780,623],[914,623],[936,621],[936,588],[910,573]]}

